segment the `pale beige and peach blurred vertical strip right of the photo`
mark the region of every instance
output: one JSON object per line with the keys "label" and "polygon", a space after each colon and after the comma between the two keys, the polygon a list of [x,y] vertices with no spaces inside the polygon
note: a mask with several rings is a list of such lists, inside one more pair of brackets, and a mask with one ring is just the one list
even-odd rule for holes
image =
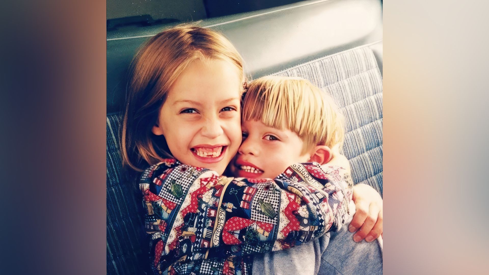
{"label": "pale beige and peach blurred vertical strip right of the photo", "polygon": [[481,274],[487,1],[384,2],[384,272]]}

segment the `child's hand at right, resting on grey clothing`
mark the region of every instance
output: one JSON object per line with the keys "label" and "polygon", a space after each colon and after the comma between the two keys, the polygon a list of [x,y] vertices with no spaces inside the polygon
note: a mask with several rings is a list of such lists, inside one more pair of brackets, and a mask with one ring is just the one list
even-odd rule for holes
{"label": "child's hand at right, resting on grey clothing", "polygon": [[356,212],[348,226],[350,232],[355,232],[353,240],[371,242],[382,234],[382,198],[377,191],[367,184],[357,184],[353,188],[353,201]]}

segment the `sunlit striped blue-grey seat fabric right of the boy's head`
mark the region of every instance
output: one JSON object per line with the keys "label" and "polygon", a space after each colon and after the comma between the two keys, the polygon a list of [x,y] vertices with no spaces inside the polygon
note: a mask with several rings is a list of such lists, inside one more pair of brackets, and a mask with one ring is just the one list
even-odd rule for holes
{"label": "sunlit striped blue-grey seat fabric right of the boy's head", "polygon": [[363,46],[323,57],[285,71],[330,93],[345,116],[343,154],[355,184],[365,183],[382,195],[382,76],[374,53]]}

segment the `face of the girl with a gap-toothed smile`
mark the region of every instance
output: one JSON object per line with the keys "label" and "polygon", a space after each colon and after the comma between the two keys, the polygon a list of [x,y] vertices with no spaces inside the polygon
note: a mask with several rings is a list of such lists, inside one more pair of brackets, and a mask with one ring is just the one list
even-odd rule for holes
{"label": "face of the girl with a gap-toothed smile", "polygon": [[170,89],[152,131],[180,162],[221,175],[241,144],[242,89],[232,63],[194,61]]}

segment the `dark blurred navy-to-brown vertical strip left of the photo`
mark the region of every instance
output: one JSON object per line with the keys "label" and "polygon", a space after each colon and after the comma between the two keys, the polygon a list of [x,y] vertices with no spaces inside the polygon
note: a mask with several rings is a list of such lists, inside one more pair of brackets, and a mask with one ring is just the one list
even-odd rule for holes
{"label": "dark blurred navy-to-brown vertical strip left of the photo", "polygon": [[105,274],[105,1],[4,1],[2,274]]}

